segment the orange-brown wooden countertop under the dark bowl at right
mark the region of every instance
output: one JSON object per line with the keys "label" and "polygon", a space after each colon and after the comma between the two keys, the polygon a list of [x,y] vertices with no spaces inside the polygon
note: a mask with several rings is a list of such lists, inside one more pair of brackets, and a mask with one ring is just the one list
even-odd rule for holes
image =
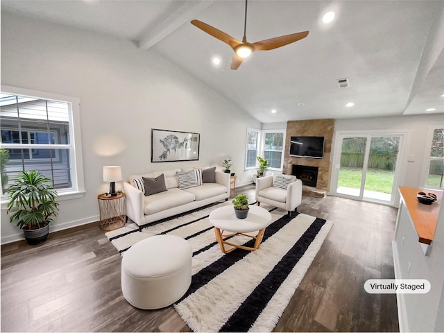
{"label": "orange-brown wooden countertop under the dark bowl at right", "polygon": [[[438,214],[441,209],[443,200],[443,192],[431,189],[415,189],[413,187],[400,186],[401,198],[404,201],[411,220],[418,232],[420,243],[431,244],[435,235],[436,223],[438,222]],[[426,194],[436,194],[437,200],[432,205],[425,205],[418,201],[416,194],[423,191]]]}

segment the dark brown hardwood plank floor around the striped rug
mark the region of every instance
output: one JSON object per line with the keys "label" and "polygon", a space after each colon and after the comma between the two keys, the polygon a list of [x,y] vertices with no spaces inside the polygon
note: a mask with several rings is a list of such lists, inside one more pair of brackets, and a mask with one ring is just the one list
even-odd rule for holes
{"label": "dark brown hardwood plank floor around the striped rug", "polygon": [[[238,188],[254,200],[254,187]],[[393,294],[368,294],[394,278],[393,207],[303,196],[300,212],[334,222],[276,332],[397,332]],[[1,332],[189,332],[173,307],[135,309],[120,287],[121,256],[99,223],[54,232],[40,246],[1,246]]]}

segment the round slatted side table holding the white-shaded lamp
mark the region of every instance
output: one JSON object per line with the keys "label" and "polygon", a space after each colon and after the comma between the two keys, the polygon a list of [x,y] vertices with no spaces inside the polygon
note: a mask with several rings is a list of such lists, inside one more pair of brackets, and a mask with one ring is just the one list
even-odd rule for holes
{"label": "round slatted side table holding the white-shaded lamp", "polygon": [[99,200],[100,228],[111,231],[125,225],[125,194],[123,192],[117,196],[106,197],[105,194],[97,196]]}

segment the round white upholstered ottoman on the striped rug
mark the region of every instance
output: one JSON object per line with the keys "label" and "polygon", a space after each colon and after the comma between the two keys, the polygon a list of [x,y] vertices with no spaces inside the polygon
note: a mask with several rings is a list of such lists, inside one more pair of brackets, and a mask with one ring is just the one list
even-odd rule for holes
{"label": "round white upholstered ottoman on the striped rug", "polygon": [[191,284],[191,256],[189,243],[171,234],[137,242],[122,259],[123,297],[139,309],[173,304]]}

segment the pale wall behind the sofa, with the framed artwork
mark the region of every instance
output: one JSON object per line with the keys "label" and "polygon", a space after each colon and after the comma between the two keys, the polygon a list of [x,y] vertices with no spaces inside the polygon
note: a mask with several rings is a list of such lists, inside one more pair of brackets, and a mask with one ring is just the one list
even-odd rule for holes
{"label": "pale wall behind the sofa, with the framed artwork", "polygon": [[[262,124],[154,51],[132,42],[1,12],[1,84],[80,99],[86,194],[61,201],[51,231],[99,220],[102,167],[132,173],[221,165],[244,173],[246,128]],[[151,163],[151,128],[200,133],[200,160]],[[241,142],[241,146],[239,146]],[[117,184],[119,188],[121,184]],[[22,239],[1,210],[1,243]]]}

